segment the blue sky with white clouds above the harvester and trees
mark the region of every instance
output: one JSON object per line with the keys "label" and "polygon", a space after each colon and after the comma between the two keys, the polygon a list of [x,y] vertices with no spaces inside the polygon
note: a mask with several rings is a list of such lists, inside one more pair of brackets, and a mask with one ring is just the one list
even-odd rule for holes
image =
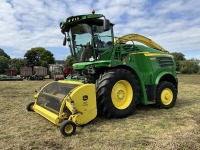
{"label": "blue sky with white clouds above the harvester and trees", "polygon": [[33,47],[44,47],[65,60],[59,24],[69,16],[104,14],[115,37],[137,33],[169,52],[200,59],[199,0],[0,0],[0,48],[23,58]]}

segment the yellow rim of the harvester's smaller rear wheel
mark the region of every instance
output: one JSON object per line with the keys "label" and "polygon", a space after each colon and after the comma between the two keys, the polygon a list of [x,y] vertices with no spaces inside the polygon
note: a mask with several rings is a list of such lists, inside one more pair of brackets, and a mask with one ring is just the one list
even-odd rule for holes
{"label": "yellow rim of the harvester's smaller rear wheel", "polygon": [[169,88],[165,88],[161,93],[161,101],[164,105],[169,105],[173,100],[173,92]]}

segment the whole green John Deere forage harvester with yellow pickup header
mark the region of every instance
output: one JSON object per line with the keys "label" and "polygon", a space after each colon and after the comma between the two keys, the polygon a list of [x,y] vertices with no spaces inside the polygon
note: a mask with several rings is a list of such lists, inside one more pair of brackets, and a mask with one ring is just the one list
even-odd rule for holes
{"label": "whole green John Deere forage harvester with yellow pickup header", "polygon": [[[74,73],[44,86],[27,105],[64,136],[74,134],[97,114],[107,118],[131,115],[138,103],[171,108],[178,81],[173,56],[139,34],[114,37],[114,24],[102,14],[71,16],[60,23],[73,56]],[[127,44],[138,41],[146,46]]]}

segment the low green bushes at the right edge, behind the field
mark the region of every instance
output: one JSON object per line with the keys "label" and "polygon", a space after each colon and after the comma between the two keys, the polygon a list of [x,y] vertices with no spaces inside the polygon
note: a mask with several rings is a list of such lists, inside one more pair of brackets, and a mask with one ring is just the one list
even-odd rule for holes
{"label": "low green bushes at the right edge, behind the field", "polygon": [[199,72],[199,60],[189,59],[180,62],[181,73],[193,74]]}

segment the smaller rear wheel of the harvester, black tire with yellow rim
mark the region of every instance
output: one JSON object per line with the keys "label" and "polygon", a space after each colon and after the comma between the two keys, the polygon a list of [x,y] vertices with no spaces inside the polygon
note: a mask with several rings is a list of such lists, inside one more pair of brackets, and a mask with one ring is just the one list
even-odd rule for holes
{"label": "smaller rear wheel of the harvester, black tire with yellow rim", "polygon": [[156,93],[156,104],[158,108],[171,108],[175,105],[177,89],[167,81],[159,83]]}

